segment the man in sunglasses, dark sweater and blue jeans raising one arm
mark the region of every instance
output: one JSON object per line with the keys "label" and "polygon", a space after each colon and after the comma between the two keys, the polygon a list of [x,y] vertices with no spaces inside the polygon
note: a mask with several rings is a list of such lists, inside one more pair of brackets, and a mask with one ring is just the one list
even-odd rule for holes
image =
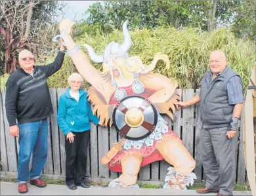
{"label": "man in sunglasses, dark sweater and blue jeans raising one arm", "polygon": [[[7,81],[5,109],[10,134],[19,136],[18,191],[20,193],[28,192],[28,178],[30,184],[37,187],[46,186],[39,178],[39,174],[47,159],[47,117],[53,114],[47,77],[61,68],[64,55],[63,41],[61,41],[60,51],[53,63],[35,66],[32,52],[22,50],[18,56],[20,67]],[[32,168],[29,171],[32,153]]]}

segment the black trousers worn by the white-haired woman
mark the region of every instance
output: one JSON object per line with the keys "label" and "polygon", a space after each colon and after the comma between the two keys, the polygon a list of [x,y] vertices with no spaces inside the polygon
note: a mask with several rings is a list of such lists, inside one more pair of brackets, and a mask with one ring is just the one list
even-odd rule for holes
{"label": "black trousers worn by the white-haired woman", "polygon": [[74,142],[65,138],[66,149],[66,184],[81,184],[87,168],[87,147],[90,131],[73,132]]}

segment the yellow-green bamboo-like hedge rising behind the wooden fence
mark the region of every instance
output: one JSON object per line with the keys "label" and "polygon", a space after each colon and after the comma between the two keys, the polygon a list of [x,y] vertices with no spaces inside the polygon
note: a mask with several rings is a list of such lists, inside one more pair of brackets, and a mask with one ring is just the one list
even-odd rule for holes
{"label": "yellow-green bamboo-like hedge rising behind the wooden fence", "polygon": [[[200,88],[203,74],[209,69],[209,53],[221,49],[225,52],[228,66],[240,73],[243,88],[246,88],[255,65],[255,45],[251,41],[237,39],[228,29],[218,29],[211,33],[200,29],[185,28],[178,30],[172,27],[158,29],[137,29],[130,31],[133,45],[129,56],[140,56],[144,64],[150,64],[158,52],[167,54],[170,68],[167,70],[162,62],[158,62],[156,72],[179,82],[179,88]],[[79,33],[74,37],[78,45],[89,44],[96,52],[101,53],[111,41],[123,42],[121,31],[108,35]],[[81,48],[86,52],[85,48]],[[54,56],[47,62],[53,61]],[[47,63],[45,62],[45,63]],[[101,68],[101,64],[93,64]],[[68,87],[68,76],[76,71],[72,60],[66,55],[62,69],[49,78],[50,88]],[[3,89],[7,76],[1,78]],[[84,87],[89,84],[85,83]]]}

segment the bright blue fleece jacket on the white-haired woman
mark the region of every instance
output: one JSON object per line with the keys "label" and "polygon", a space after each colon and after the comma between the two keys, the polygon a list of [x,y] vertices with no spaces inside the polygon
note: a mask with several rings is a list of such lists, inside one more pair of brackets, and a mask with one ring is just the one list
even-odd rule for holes
{"label": "bright blue fleece jacket on the white-haired woman", "polygon": [[90,121],[98,125],[99,119],[93,115],[87,100],[87,92],[79,89],[79,102],[70,96],[70,87],[60,96],[58,102],[58,126],[64,132],[83,132],[91,129]]}

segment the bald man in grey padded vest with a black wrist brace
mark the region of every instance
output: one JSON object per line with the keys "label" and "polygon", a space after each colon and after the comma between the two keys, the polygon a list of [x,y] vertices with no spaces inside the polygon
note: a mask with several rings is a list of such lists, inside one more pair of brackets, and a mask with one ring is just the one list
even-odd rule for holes
{"label": "bald man in grey padded vest with a black wrist brace", "polygon": [[179,107],[200,102],[202,130],[200,149],[205,187],[198,193],[232,195],[235,174],[236,130],[243,107],[240,75],[226,66],[225,54],[215,50],[210,54],[210,71],[205,73],[200,94]]}

